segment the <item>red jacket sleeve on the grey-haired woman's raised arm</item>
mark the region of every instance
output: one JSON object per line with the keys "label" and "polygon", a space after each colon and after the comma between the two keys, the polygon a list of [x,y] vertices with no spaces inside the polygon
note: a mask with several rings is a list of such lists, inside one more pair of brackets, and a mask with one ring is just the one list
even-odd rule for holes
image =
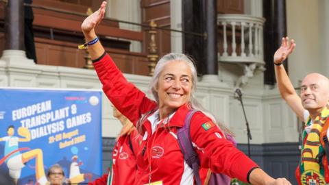
{"label": "red jacket sleeve on the grey-haired woman's raised arm", "polygon": [[103,91],[113,105],[136,125],[142,114],[156,108],[156,102],[127,82],[108,54],[94,61],[95,70],[103,84]]}

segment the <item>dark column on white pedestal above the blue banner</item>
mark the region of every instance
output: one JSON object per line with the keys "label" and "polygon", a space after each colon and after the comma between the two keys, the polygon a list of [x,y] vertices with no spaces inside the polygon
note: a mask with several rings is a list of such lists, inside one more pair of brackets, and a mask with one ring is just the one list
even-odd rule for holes
{"label": "dark column on white pedestal above the blue banner", "polygon": [[5,6],[5,49],[0,58],[2,86],[33,87],[40,69],[24,51],[23,0],[10,0]]}

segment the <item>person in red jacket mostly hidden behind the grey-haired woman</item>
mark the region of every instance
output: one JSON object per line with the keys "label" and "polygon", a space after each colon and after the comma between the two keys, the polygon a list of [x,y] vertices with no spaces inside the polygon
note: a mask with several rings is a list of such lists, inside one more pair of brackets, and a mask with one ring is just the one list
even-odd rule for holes
{"label": "person in red jacket mostly hidden behind the grey-haired woman", "polygon": [[114,107],[113,116],[119,119],[123,127],[117,137],[117,142],[114,144],[112,167],[110,168],[112,170],[88,185],[135,184],[136,173],[138,173],[136,153],[140,149],[142,137],[132,122]]}

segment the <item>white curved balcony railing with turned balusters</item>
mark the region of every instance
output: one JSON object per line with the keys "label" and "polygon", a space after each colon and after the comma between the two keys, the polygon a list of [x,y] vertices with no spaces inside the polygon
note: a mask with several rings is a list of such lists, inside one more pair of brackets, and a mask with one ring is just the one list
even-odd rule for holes
{"label": "white curved balcony railing with turned balusters", "polygon": [[219,14],[219,62],[264,64],[265,18],[245,14]]}

